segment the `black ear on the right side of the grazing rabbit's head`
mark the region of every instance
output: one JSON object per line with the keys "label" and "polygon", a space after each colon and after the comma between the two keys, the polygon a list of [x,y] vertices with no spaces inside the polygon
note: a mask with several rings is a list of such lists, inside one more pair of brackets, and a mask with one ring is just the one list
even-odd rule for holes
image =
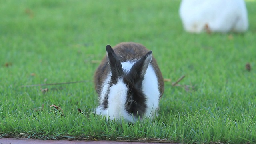
{"label": "black ear on the right side of the grazing rabbit's head", "polygon": [[132,81],[134,83],[141,82],[143,80],[151,60],[152,51],[150,50],[145,56],[134,63],[128,74],[129,77],[133,79]]}

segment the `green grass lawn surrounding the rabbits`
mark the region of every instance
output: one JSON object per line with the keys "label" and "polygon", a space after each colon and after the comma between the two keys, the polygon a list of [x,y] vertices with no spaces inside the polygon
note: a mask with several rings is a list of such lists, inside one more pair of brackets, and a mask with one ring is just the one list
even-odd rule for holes
{"label": "green grass lawn surrounding the rabbits", "polygon": [[[248,32],[212,35],[184,32],[179,4],[0,1],[0,137],[256,142],[256,2],[246,3]],[[90,113],[98,105],[93,74],[106,44],[129,41],[152,50],[171,82],[165,82],[158,118],[119,125]],[[194,90],[172,87],[182,75],[179,84]],[[21,87],[80,80],[86,82]]]}

